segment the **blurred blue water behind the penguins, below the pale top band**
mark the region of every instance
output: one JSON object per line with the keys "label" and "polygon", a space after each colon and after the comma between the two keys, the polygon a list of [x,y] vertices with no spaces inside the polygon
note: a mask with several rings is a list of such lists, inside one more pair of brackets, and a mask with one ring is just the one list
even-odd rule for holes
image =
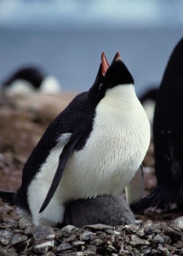
{"label": "blurred blue water behind the penguins, below the pale top band", "polygon": [[134,76],[137,95],[159,84],[182,27],[137,29],[0,28],[0,84],[14,69],[37,65],[59,79],[63,90],[88,90],[105,51],[117,51]]}

